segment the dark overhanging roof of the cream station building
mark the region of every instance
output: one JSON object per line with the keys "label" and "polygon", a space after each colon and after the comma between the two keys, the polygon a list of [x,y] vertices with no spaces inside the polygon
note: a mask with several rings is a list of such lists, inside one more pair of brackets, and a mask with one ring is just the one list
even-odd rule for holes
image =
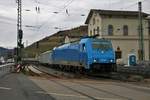
{"label": "dark overhanging roof of the cream station building", "polygon": [[[121,11],[121,10],[101,10],[101,9],[91,9],[90,13],[85,21],[85,24],[89,23],[90,18],[92,17],[93,13],[99,13],[99,15],[112,15],[112,16],[138,16],[138,11]],[[149,16],[149,14],[142,12],[144,17]]]}

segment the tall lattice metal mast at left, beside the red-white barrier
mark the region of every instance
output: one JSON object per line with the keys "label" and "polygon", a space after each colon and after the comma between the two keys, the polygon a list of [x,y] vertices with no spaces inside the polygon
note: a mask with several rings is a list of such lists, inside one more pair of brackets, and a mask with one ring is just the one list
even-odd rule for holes
{"label": "tall lattice metal mast at left, beside the red-white barrier", "polygon": [[22,31],[22,1],[17,0],[17,64],[21,62],[22,59],[22,37],[23,37],[23,31]]}

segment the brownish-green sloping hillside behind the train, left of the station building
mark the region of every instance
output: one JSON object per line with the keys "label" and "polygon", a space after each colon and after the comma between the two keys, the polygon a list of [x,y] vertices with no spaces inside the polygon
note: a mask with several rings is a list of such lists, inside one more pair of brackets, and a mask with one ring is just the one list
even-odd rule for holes
{"label": "brownish-green sloping hillside behind the train, left of the station building", "polygon": [[87,31],[87,26],[59,31],[26,47],[23,51],[24,57],[34,58],[45,51],[52,50],[54,47],[63,44],[66,36],[73,41],[81,38],[82,36],[86,36],[88,33]]}

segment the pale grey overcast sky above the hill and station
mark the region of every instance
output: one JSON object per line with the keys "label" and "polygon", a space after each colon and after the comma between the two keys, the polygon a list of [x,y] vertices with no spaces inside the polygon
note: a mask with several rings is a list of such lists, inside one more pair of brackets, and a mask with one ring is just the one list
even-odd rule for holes
{"label": "pale grey overcast sky above the hill and station", "polygon": [[[139,0],[22,0],[23,42],[29,44],[60,30],[83,25],[90,9],[137,10]],[[141,0],[150,14],[150,0]],[[40,12],[36,12],[36,6]],[[16,0],[0,0],[0,46],[16,46]],[[30,11],[26,11],[26,10]],[[66,9],[67,12],[66,13]],[[58,12],[57,14],[54,12]],[[81,16],[81,15],[85,16]],[[26,27],[26,26],[33,27]]]}

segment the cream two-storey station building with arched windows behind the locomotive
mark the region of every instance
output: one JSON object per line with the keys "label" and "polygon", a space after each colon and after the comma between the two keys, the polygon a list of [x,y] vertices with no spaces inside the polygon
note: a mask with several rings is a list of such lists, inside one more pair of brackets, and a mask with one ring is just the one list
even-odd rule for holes
{"label": "cream two-storey station building with arched windows behind the locomotive", "polygon": [[[142,13],[145,60],[150,59],[149,14]],[[113,11],[92,9],[86,19],[88,35],[110,39],[116,58],[127,63],[128,54],[134,52],[139,59],[138,11]]]}

